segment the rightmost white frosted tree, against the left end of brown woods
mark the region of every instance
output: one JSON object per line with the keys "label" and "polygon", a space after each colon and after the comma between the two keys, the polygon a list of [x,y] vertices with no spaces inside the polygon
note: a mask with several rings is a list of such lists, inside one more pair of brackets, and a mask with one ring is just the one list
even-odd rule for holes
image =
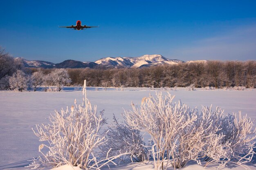
{"label": "rightmost white frosted tree, against the left end of brown woods", "polygon": [[67,85],[71,82],[71,79],[67,73],[67,70],[64,68],[53,70],[50,75],[52,79],[53,85],[58,87],[58,91],[60,92],[64,85]]}

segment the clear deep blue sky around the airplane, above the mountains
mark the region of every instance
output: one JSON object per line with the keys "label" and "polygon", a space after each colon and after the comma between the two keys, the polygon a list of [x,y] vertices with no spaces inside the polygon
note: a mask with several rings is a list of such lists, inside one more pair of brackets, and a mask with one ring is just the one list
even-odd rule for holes
{"label": "clear deep blue sky around the airplane, above the mountains", "polygon": [[[0,46],[13,57],[66,59],[161,54],[255,60],[256,1],[0,0]],[[58,26],[98,26],[75,31]]]}

